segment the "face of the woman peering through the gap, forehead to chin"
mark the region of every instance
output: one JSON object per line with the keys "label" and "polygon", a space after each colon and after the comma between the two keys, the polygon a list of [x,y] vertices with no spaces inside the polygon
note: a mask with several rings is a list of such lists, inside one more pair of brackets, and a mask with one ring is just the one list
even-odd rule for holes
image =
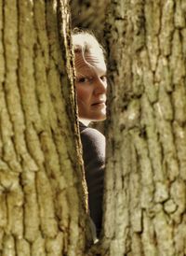
{"label": "face of the woman peering through the gap, forehead to chin", "polygon": [[80,119],[102,121],[106,118],[106,64],[100,52],[75,53],[75,86]]}

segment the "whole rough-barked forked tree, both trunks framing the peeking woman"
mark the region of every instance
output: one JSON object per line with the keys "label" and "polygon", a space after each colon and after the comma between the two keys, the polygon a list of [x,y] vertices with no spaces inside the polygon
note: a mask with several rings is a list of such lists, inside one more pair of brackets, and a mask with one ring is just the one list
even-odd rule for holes
{"label": "whole rough-barked forked tree, both trunks framing the peeking woman", "polygon": [[87,251],[68,1],[0,0],[0,255],[186,254],[185,14],[111,0],[103,231]]}

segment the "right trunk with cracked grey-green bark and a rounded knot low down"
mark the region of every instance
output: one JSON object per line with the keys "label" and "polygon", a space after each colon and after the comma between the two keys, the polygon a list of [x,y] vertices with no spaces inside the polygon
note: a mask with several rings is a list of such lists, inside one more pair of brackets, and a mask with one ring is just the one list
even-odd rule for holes
{"label": "right trunk with cracked grey-green bark and a rounded knot low down", "polygon": [[186,2],[111,1],[102,254],[186,255]]}

